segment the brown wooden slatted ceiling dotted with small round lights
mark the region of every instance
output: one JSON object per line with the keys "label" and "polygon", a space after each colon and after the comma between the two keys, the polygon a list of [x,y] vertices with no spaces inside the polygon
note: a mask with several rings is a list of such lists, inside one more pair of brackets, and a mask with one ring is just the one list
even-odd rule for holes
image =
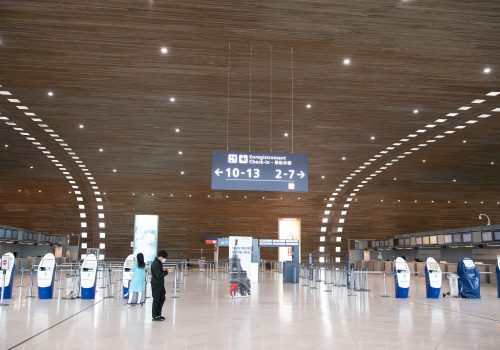
{"label": "brown wooden slatted ceiling dotted with small round lights", "polygon": [[[64,137],[106,192],[107,256],[126,255],[136,213],[160,215],[160,244],[176,254],[197,254],[206,235],[272,237],[284,216],[302,218],[302,251],[317,252],[324,199],[349,173],[500,89],[499,15],[496,2],[469,1],[2,1],[0,84]],[[229,43],[234,150],[248,149],[252,45],[252,150],[271,145],[272,46],[272,146],[290,151],[293,47],[294,144],[310,158],[309,193],[210,191],[210,152],[226,148]],[[23,118],[3,97],[0,106]],[[498,134],[491,117],[398,162],[360,191],[345,236],[474,226],[479,211],[500,220]],[[0,223],[77,231],[60,173],[12,128],[1,124],[0,136],[9,144],[0,147]]]}

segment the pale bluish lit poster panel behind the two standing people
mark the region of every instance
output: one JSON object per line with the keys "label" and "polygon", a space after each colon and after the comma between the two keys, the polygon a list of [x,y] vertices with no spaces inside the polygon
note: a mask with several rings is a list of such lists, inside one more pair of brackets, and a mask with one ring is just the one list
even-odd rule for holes
{"label": "pale bluish lit poster panel behind the two standing people", "polygon": [[144,254],[151,262],[158,249],[158,215],[136,215],[134,224],[134,255]]}

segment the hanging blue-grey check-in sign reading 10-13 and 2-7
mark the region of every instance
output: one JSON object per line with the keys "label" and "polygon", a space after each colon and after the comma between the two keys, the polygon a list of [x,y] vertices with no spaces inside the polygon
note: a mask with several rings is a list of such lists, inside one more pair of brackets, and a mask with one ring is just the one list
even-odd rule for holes
{"label": "hanging blue-grey check-in sign reading 10-13 and 2-7", "polygon": [[212,190],[307,192],[307,156],[213,151]]}

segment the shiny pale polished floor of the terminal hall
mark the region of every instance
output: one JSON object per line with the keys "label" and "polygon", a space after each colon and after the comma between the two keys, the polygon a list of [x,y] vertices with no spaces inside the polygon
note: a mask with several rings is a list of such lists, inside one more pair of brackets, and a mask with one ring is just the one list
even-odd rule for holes
{"label": "shiny pale polished floor of the terminal hall", "polygon": [[[116,294],[92,301],[26,298],[0,308],[2,349],[499,349],[500,299],[482,286],[480,300],[425,298],[413,278],[409,299],[382,298],[382,278],[370,292],[318,283],[318,289],[283,284],[261,273],[251,298],[229,299],[225,274],[217,279],[189,271],[179,298],[167,280],[164,322],[144,307],[126,306]],[[16,283],[17,284],[17,283]],[[393,295],[392,279],[388,279]],[[445,286],[443,289],[447,290]]]}

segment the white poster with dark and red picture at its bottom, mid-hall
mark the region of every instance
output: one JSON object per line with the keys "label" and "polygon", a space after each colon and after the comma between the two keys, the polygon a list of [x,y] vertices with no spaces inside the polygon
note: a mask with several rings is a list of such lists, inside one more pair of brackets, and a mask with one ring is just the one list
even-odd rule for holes
{"label": "white poster with dark and red picture at its bottom, mid-hall", "polygon": [[250,296],[252,237],[229,236],[229,296]]}

